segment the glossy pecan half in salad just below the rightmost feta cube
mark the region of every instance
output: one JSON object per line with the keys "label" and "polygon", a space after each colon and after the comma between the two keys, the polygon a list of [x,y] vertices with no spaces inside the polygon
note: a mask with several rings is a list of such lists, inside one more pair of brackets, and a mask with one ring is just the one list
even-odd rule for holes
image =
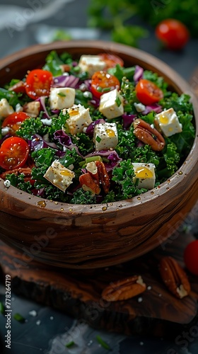
{"label": "glossy pecan half in salad just below the rightmost feta cube", "polygon": [[165,140],[161,133],[142,119],[134,120],[134,135],[156,152],[160,152],[165,147]]}

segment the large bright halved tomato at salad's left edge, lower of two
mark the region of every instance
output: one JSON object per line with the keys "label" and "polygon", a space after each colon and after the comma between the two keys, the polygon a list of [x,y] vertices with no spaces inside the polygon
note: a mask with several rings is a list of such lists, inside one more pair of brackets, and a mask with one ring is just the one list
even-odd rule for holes
{"label": "large bright halved tomato at salad's left edge, lower of two", "polygon": [[29,147],[21,137],[8,137],[1,144],[0,166],[5,170],[22,167],[28,159]]}

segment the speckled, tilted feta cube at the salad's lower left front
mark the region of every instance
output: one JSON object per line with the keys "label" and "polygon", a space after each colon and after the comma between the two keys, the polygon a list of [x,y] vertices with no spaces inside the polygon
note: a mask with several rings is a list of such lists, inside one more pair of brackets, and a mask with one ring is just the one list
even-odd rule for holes
{"label": "speckled, tilted feta cube at the salad's lower left front", "polygon": [[71,185],[74,176],[73,171],[66,169],[58,160],[55,160],[43,177],[64,192]]}

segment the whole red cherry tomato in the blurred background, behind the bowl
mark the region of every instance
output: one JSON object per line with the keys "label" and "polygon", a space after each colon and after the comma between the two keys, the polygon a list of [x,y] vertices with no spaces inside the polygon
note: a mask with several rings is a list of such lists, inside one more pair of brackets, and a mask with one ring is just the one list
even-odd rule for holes
{"label": "whole red cherry tomato in the blurred background, behind the bowl", "polygon": [[167,18],[156,26],[156,37],[161,40],[168,49],[182,49],[190,38],[187,27],[180,21]]}

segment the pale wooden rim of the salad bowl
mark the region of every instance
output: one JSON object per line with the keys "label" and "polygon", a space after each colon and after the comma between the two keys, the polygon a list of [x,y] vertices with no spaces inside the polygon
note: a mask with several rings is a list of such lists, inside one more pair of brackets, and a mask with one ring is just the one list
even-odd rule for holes
{"label": "pale wooden rim of the salad bowl", "polygon": [[[39,52],[50,52],[50,50],[66,51],[69,49],[77,51],[85,50],[86,52],[91,49],[97,49],[98,53],[102,51],[113,53],[116,52],[117,55],[120,55],[121,57],[124,55],[136,57],[136,59],[141,62],[143,67],[149,64],[150,67],[153,67],[153,69],[151,70],[158,72],[158,74],[161,74],[161,76],[164,77],[165,81],[168,81],[168,83],[173,84],[175,91],[177,91],[178,93],[190,94],[194,107],[194,120],[196,126],[196,136],[194,138],[190,153],[188,154],[187,158],[180,166],[180,168],[173,174],[173,176],[171,176],[168,181],[161,183],[160,188],[156,187],[153,188],[153,190],[148,190],[148,192],[141,194],[140,198],[139,196],[136,196],[128,200],[121,200],[119,202],[108,203],[111,207],[107,207],[106,209],[104,205],[107,205],[107,203],[101,203],[96,205],[74,205],[66,202],[52,202],[52,200],[46,200],[45,198],[29,195],[26,192],[18,190],[18,188],[13,187],[12,185],[9,188],[6,188],[4,185],[4,180],[1,178],[0,191],[2,193],[11,195],[11,198],[15,198],[18,201],[25,202],[26,205],[30,206],[35,205],[36,207],[39,207],[37,203],[41,200],[45,200],[45,210],[54,210],[56,212],[59,212],[60,205],[64,205],[64,211],[62,211],[62,213],[72,211],[72,214],[75,214],[76,212],[79,213],[80,206],[83,209],[81,213],[88,212],[90,215],[92,213],[95,215],[98,213],[101,214],[101,211],[107,213],[112,212],[113,210],[119,210],[120,207],[122,207],[122,210],[125,208],[134,207],[136,205],[139,205],[140,202],[141,205],[145,204],[151,201],[151,194],[153,194],[153,200],[153,198],[158,198],[159,196],[164,195],[164,193],[167,193],[167,190],[173,189],[176,185],[180,184],[182,178],[185,178],[185,176],[189,173],[190,169],[193,169],[194,166],[198,163],[198,154],[197,157],[195,156],[196,154],[193,154],[198,144],[198,101],[191,90],[190,84],[188,84],[187,81],[185,81],[185,79],[180,76],[180,74],[177,74],[174,69],[169,67],[168,64],[165,64],[165,62],[163,62],[161,59],[158,59],[157,57],[154,57],[153,55],[144,52],[143,50],[139,50],[137,48],[129,47],[127,45],[123,45],[116,42],[109,42],[103,40],[69,40],[66,42],[57,41],[47,43],[45,45],[31,45],[30,47],[25,47],[22,50],[19,50],[18,52],[14,52],[13,54],[0,59],[0,70],[7,70],[10,64],[13,64],[13,62],[18,61],[25,56],[33,56],[38,54]],[[86,54],[86,52],[83,54]],[[174,83],[171,79],[172,77],[174,77]],[[27,195],[29,198],[27,198]]]}

